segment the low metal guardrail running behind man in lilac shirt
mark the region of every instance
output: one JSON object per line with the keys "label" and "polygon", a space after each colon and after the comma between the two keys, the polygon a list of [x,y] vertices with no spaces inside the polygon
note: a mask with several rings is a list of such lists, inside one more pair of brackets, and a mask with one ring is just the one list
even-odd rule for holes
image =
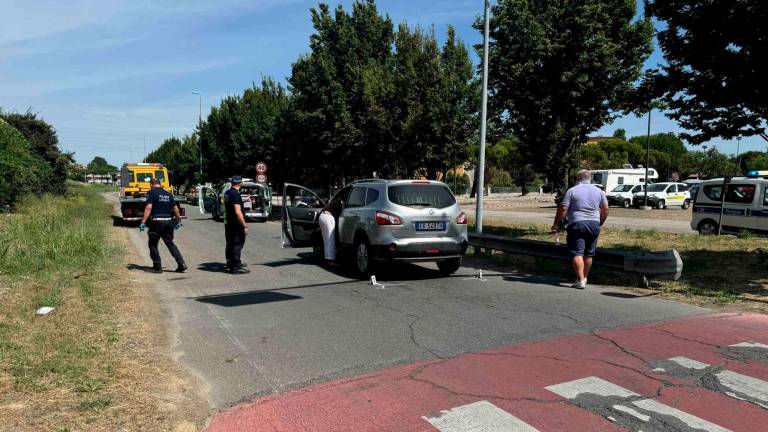
{"label": "low metal guardrail running behind man in lilac shirt", "polygon": [[[569,261],[565,245],[538,240],[525,240],[493,234],[469,233],[469,244],[481,249],[499,250],[515,254]],[[664,252],[646,252],[615,248],[597,248],[594,265],[634,273],[648,279],[678,280],[683,272],[683,260],[672,249]]]}

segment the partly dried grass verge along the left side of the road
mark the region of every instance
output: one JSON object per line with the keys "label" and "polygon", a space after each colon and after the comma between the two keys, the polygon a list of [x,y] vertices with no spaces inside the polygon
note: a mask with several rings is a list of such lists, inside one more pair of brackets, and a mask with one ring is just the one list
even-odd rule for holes
{"label": "partly dried grass verge along the left side of the road", "polygon": [[191,386],[162,354],[159,312],[142,316],[157,306],[127,280],[130,245],[102,190],[71,183],[0,216],[0,430],[174,430],[190,415],[179,399]]}

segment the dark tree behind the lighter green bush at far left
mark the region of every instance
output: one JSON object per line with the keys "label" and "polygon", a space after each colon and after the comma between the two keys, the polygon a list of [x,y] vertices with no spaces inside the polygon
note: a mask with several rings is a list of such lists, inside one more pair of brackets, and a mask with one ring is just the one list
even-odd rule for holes
{"label": "dark tree behind the lighter green bush at far left", "polygon": [[74,163],[72,153],[62,153],[56,130],[37,114],[27,111],[3,112],[0,118],[16,128],[29,143],[29,149],[50,166],[50,176],[43,181],[45,192],[63,194],[66,191],[68,167]]}

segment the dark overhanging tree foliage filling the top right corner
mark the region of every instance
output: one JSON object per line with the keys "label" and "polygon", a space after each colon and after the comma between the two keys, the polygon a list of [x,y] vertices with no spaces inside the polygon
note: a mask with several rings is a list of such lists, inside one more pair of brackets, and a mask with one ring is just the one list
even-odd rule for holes
{"label": "dark overhanging tree foliage filling the top right corner", "polygon": [[759,135],[765,130],[768,71],[763,0],[646,0],[648,18],[661,21],[657,34],[666,63],[647,74],[644,87],[669,107],[668,115],[694,132],[694,144],[715,137]]}

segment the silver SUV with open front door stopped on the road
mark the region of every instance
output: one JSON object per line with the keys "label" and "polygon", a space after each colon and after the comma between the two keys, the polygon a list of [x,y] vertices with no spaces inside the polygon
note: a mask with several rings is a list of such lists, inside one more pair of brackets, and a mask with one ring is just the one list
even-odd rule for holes
{"label": "silver SUV with open front door stopped on the road", "polygon": [[[284,243],[312,246],[323,256],[318,216],[326,202],[312,190],[286,183]],[[467,250],[467,215],[445,183],[430,180],[361,180],[330,201],[337,209],[337,250],[361,276],[381,261],[436,262],[443,274],[461,266]]]}

